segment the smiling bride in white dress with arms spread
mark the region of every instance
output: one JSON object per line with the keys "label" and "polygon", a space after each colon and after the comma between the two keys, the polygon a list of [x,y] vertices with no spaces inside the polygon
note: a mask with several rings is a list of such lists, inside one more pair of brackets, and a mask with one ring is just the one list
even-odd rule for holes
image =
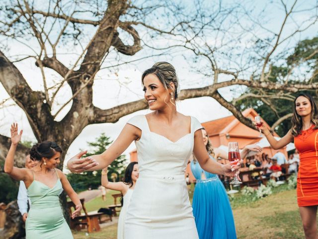
{"label": "smiling bride in white dress with arms spread", "polygon": [[68,161],[72,172],[107,167],[135,141],[139,179],[127,211],[126,239],[198,239],[185,182],[188,158],[194,153],[201,168],[234,176],[239,163],[212,160],[202,138],[200,122],[176,111],[178,80],[174,67],[158,62],[142,75],[145,100],[153,112],[135,116],[102,154]]}

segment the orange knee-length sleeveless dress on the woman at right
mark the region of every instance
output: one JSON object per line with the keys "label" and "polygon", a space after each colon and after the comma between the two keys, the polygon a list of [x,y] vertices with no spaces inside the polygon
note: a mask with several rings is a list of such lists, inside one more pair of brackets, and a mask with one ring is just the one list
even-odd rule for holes
{"label": "orange knee-length sleeveless dress on the woman at right", "polygon": [[294,137],[300,164],[297,176],[299,207],[318,205],[318,129],[314,125]]}

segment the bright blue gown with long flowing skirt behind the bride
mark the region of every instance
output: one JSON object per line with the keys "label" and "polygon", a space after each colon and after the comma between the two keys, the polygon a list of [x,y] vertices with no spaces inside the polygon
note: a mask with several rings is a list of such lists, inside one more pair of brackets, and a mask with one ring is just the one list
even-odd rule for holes
{"label": "bright blue gown with long flowing skirt behind the bride", "polygon": [[192,207],[199,239],[236,239],[230,201],[219,176],[204,171],[194,160],[191,171],[197,180]]}

